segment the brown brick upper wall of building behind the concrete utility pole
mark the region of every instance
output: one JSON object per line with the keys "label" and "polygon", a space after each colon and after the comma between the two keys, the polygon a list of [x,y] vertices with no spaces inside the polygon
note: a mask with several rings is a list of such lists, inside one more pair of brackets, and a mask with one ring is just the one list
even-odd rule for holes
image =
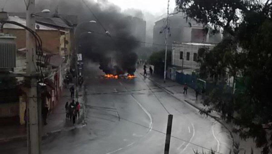
{"label": "brown brick upper wall of building behind the concrete utility pole", "polygon": [[[25,30],[24,29],[8,29],[4,28],[4,33],[13,34],[17,49],[25,48]],[[50,53],[59,53],[60,47],[60,31],[58,30],[36,30],[37,34],[42,39],[43,49]]]}

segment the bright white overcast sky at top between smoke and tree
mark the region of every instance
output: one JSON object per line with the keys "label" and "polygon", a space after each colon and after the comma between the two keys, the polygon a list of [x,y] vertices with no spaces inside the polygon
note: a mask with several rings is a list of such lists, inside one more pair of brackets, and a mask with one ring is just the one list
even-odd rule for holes
{"label": "bright white overcast sky at top between smoke and tree", "polygon": [[[97,0],[96,0],[97,1]],[[167,12],[168,0],[108,0],[118,5],[122,10],[135,8],[141,11],[148,11],[153,15],[162,15]],[[170,0],[170,11],[175,7],[175,0]]]}

